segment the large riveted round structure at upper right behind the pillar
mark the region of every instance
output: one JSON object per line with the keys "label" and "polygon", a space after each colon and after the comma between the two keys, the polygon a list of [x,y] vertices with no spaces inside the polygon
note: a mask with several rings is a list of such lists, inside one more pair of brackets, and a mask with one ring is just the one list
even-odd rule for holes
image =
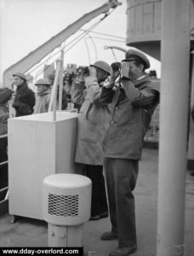
{"label": "large riveted round structure at upper right behind the pillar", "polygon": [[[183,1],[184,2],[184,1]],[[190,0],[190,28],[194,27],[194,2]],[[127,42],[157,60],[161,60],[163,0],[127,0]],[[191,47],[194,46],[191,36]]]}

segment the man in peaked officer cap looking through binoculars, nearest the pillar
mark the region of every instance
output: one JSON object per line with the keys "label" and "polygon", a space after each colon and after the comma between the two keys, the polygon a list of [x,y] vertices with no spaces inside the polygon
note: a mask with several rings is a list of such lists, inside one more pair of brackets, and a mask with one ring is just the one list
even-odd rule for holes
{"label": "man in peaked officer cap looking through binoculars, nearest the pillar", "polygon": [[[110,256],[128,256],[137,249],[133,190],[145,132],[159,101],[158,91],[145,76],[149,67],[144,54],[129,49],[121,70],[112,71],[110,83],[100,95],[100,102],[111,102],[111,119],[103,142],[111,231],[101,236],[104,241],[118,239],[118,247]],[[115,89],[118,76],[120,85]]]}

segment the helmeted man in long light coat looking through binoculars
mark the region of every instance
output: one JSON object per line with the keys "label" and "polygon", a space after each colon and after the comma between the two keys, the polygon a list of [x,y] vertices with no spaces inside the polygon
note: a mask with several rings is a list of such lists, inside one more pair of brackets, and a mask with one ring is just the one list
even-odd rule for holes
{"label": "helmeted man in long light coat looking through binoculars", "polygon": [[110,117],[110,107],[100,103],[98,98],[101,86],[111,73],[111,67],[105,61],[97,61],[85,71],[85,78],[77,78],[71,94],[72,102],[82,105],[78,113],[75,161],[84,165],[86,176],[92,180],[90,219],[98,220],[108,216],[102,140]]}

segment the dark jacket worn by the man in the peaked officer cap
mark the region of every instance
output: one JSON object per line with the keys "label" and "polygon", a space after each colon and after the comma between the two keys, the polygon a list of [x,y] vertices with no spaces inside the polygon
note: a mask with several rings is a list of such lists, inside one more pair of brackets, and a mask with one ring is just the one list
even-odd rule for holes
{"label": "dark jacket worn by the man in the peaked officer cap", "polygon": [[122,81],[123,88],[103,88],[100,101],[111,102],[111,120],[103,142],[106,157],[140,160],[145,132],[159,102],[148,78]]}

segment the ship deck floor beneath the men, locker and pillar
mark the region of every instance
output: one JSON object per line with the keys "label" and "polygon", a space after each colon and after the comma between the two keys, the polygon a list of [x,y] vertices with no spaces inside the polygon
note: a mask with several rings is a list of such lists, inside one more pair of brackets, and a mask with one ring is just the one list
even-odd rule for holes
{"label": "ship deck floor beneath the men, locker and pillar", "polygon": [[[157,251],[157,174],[158,150],[143,149],[140,173],[134,189],[138,251],[134,256],[155,256]],[[185,183],[185,256],[194,255],[194,177],[186,172]],[[0,247],[48,247],[47,223],[18,218],[11,224],[9,213],[0,217]],[[84,225],[84,256],[106,256],[117,241],[101,241],[100,235],[111,229],[110,219],[88,221]],[[90,254],[88,253],[90,252]]]}

